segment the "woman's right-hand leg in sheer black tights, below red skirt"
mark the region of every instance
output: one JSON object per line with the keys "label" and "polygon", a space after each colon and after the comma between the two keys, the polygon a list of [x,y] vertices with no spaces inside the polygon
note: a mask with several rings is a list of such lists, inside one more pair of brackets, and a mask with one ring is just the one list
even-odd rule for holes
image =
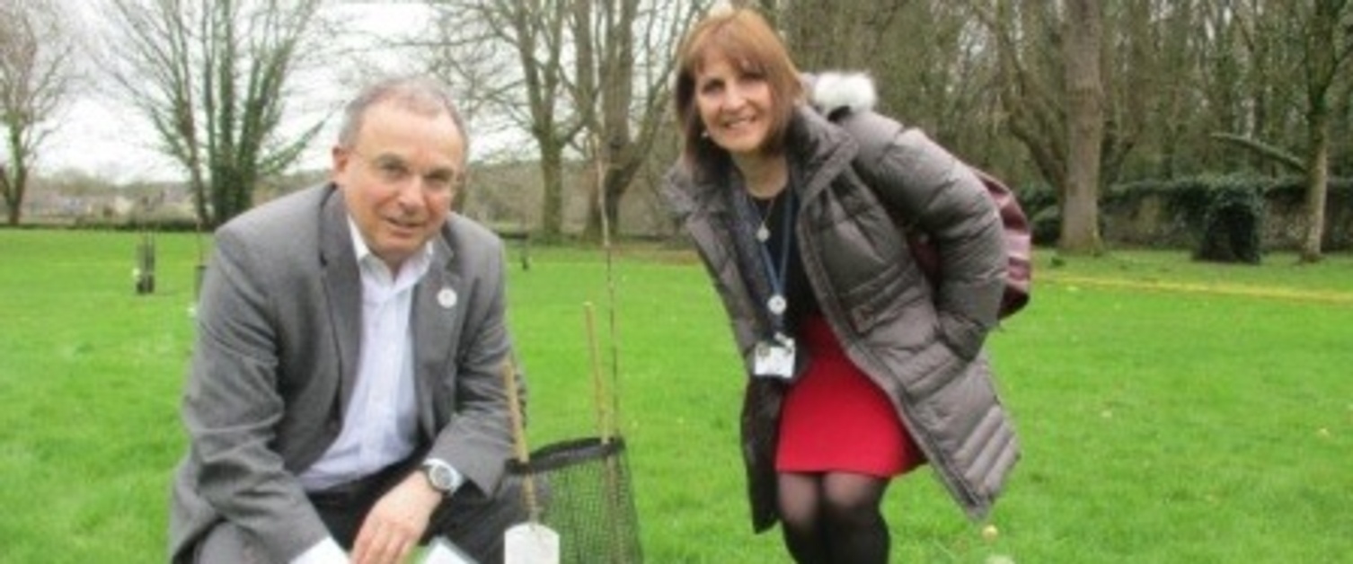
{"label": "woman's right-hand leg in sheer black tights, below red skirt", "polygon": [[846,472],[821,479],[819,527],[827,532],[831,561],[888,563],[890,540],[879,511],[888,484],[885,477]]}

